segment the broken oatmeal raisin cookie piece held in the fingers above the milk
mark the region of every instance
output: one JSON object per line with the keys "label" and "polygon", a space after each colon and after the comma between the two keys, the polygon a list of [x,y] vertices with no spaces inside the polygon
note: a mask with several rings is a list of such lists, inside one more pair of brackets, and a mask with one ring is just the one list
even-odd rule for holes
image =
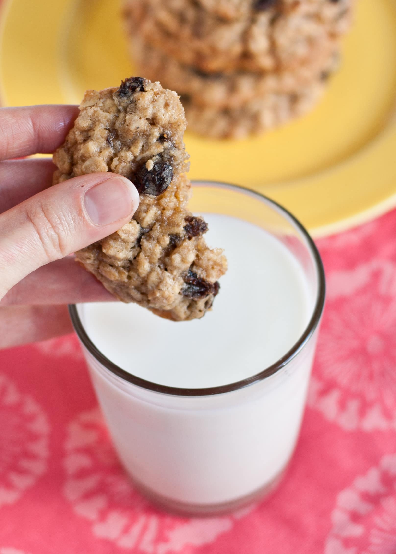
{"label": "broken oatmeal raisin cookie piece held in the fingers above the milk", "polygon": [[119,88],[89,90],[63,146],[54,153],[54,183],[94,171],[135,183],[133,219],[76,259],[120,300],[174,321],[202,317],[227,269],[209,249],[207,224],[188,211],[184,111],[176,93],[140,77]]}

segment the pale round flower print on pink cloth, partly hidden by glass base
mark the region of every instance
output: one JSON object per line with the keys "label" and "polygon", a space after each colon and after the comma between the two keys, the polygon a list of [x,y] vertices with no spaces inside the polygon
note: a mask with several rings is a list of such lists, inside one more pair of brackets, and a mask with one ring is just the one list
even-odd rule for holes
{"label": "pale round flower print on pink cloth, partly hidden by glass base", "polygon": [[75,514],[90,522],[96,538],[121,549],[168,554],[209,544],[253,509],[204,519],[156,510],[122,470],[98,409],[80,413],[69,424],[65,451],[65,498]]}

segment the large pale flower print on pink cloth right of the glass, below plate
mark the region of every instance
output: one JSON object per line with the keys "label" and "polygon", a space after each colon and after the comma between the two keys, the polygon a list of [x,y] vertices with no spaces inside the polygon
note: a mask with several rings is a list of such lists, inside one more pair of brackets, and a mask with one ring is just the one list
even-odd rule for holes
{"label": "large pale flower print on pink cloth right of the glass, below plate", "polygon": [[396,429],[396,265],[328,275],[308,406],[346,431]]}

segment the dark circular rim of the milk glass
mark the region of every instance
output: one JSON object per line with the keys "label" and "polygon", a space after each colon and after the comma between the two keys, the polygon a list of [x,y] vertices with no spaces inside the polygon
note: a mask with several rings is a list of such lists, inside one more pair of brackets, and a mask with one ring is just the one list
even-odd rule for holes
{"label": "dark circular rim of the milk glass", "polygon": [[126,370],[123,370],[121,367],[117,366],[114,362],[109,360],[100,350],[95,346],[95,344],[89,338],[87,332],[84,329],[84,325],[81,322],[80,316],[78,314],[76,304],[69,305],[69,314],[71,323],[73,324],[74,330],[79,337],[80,341],[83,343],[88,352],[104,366],[111,373],[114,373],[117,377],[120,377],[128,383],[132,383],[137,387],[147,389],[148,391],[157,392],[161,394],[167,394],[169,396],[184,396],[184,397],[195,397],[195,396],[212,396],[213,394],[224,394],[227,392],[237,391],[241,388],[250,386],[251,384],[263,381],[264,379],[274,375],[280,371],[283,367],[293,360],[299,352],[304,348],[306,343],[310,340],[311,336],[315,332],[323,312],[323,307],[325,305],[325,296],[326,296],[326,282],[325,282],[325,270],[323,269],[322,259],[316,248],[315,243],[313,242],[310,234],[307,232],[305,227],[296,219],[286,208],[271,200],[264,194],[253,191],[247,187],[241,187],[236,184],[223,183],[220,181],[204,181],[196,180],[192,181],[194,186],[205,186],[212,185],[217,188],[230,189],[243,194],[248,194],[248,196],[256,198],[259,202],[269,204],[271,207],[275,208],[277,211],[280,211],[282,216],[290,221],[292,225],[302,234],[305,238],[308,249],[312,256],[313,262],[317,270],[317,279],[318,279],[318,291],[315,301],[315,306],[312,310],[312,316],[308,321],[308,324],[300,336],[300,338],[294,343],[294,345],[285,353],[284,356],[279,358],[271,366],[266,367],[264,370],[247,377],[246,379],[241,379],[240,381],[235,381],[234,383],[224,384],[217,387],[204,387],[204,388],[184,388],[184,387],[170,387],[167,385],[162,385],[158,383],[153,383],[147,381],[141,377],[137,377],[132,373],[129,373]]}

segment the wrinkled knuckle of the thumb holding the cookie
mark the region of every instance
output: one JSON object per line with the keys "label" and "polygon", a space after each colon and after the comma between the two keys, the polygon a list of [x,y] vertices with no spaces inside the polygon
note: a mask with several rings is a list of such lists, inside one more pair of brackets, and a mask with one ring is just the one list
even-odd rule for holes
{"label": "wrinkled knuckle of the thumb holding the cookie", "polygon": [[37,202],[27,211],[27,217],[49,261],[67,254],[72,229],[70,222],[52,206]]}

